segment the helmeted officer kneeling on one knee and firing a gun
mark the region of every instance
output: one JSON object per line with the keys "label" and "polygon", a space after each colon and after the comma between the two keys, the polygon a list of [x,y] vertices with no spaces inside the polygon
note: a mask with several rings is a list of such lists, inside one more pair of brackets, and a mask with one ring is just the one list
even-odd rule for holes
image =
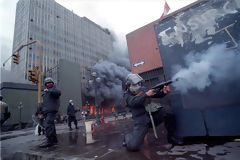
{"label": "helmeted officer kneeling on one knee and firing a gun", "polygon": [[[126,79],[126,91],[124,99],[129,107],[132,118],[134,120],[134,128],[131,133],[124,136],[123,146],[129,151],[137,151],[144,142],[144,137],[148,129],[152,127],[150,115],[146,110],[151,98],[161,98],[170,92],[169,86],[164,86],[161,91],[156,92],[154,89],[146,90],[141,82],[142,77],[138,74],[129,74]],[[162,121],[168,132],[168,142],[181,145],[182,141],[175,136],[175,118],[172,113],[168,113],[163,107],[157,107],[157,110],[152,112],[154,124],[158,126]]]}

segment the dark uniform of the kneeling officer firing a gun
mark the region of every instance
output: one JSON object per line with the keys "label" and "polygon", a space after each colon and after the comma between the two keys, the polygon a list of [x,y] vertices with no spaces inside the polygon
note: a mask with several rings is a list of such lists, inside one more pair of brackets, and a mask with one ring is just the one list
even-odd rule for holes
{"label": "dark uniform of the kneeling officer firing a gun", "polygon": [[[165,94],[163,92],[159,92],[151,98],[161,98],[164,96]],[[152,127],[149,113],[145,109],[145,102],[148,98],[150,97],[147,97],[145,92],[142,92],[141,95],[134,95],[130,91],[124,93],[124,99],[134,120],[133,132],[125,135],[126,147],[130,151],[137,151],[140,149],[148,129]],[[163,121],[165,122],[168,137],[171,137],[174,134],[175,119],[173,114],[167,113],[164,108],[161,108],[158,111],[153,112],[152,116],[156,126]]]}

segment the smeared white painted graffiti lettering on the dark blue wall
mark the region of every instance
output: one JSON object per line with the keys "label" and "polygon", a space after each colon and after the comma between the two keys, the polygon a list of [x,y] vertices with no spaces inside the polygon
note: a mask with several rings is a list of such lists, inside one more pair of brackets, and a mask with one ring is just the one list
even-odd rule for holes
{"label": "smeared white painted graffiti lettering on the dark blue wall", "polygon": [[162,45],[169,47],[175,44],[183,47],[186,42],[200,44],[208,41],[210,44],[212,36],[218,33],[219,30],[226,31],[230,39],[234,40],[227,28],[219,28],[217,20],[225,15],[239,12],[238,9],[240,9],[238,0],[226,1],[222,6],[216,8],[203,4],[197,10],[190,9],[177,15],[174,20],[175,25],[161,31],[158,36],[162,41]]}

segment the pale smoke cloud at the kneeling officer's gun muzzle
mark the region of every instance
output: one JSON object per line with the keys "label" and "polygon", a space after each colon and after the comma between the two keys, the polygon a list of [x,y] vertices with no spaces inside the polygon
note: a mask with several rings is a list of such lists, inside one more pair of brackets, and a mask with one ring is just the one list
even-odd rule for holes
{"label": "pale smoke cloud at the kneeling officer's gun muzzle", "polygon": [[173,83],[177,91],[185,94],[190,89],[204,91],[213,83],[227,87],[240,80],[240,52],[226,49],[225,45],[214,45],[202,53],[190,53],[185,57],[186,67],[174,66]]}

